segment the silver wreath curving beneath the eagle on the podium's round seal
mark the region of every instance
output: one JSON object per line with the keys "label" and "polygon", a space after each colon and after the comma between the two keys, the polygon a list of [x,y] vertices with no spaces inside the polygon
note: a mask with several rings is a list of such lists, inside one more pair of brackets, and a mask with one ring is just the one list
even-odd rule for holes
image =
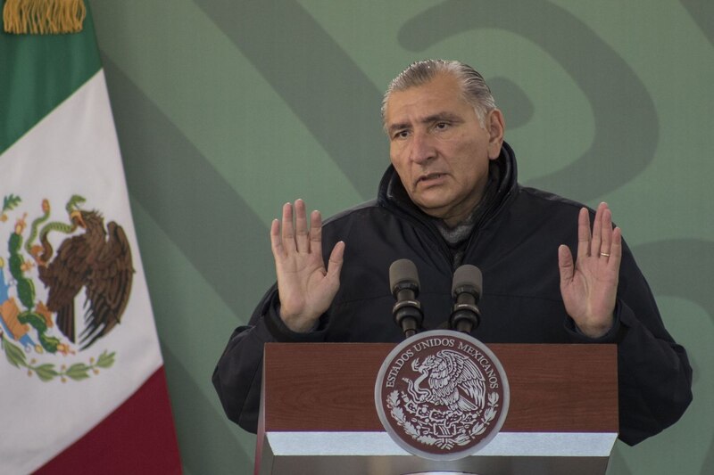
{"label": "silver wreath curving beneath the eagle on the podium's round seal", "polygon": [[[400,401],[400,395],[403,399]],[[386,406],[389,414],[403,428],[404,432],[426,446],[437,446],[443,450],[450,450],[453,446],[465,446],[473,438],[483,434],[486,428],[491,425],[496,414],[498,414],[498,393],[492,392],[488,395],[486,408],[482,414],[480,411],[439,411],[429,410],[427,405],[417,405],[406,393],[394,390],[386,397]],[[407,418],[408,413],[411,419]],[[437,435],[429,428],[433,422],[448,422],[451,427],[461,427],[462,431],[455,434]]]}

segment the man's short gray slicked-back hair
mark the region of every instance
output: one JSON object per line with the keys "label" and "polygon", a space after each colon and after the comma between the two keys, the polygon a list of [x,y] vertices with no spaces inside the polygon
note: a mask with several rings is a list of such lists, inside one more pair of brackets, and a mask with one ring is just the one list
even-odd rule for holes
{"label": "man's short gray slicked-back hair", "polygon": [[486,114],[496,108],[496,103],[484,77],[468,64],[445,60],[412,62],[406,70],[392,79],[382,98],[382,123],[384,124],[386,119],[386,102],[390,94],[424,85],[441,74],[450,74],[459,81],[462,99],[471,104],[476,111],[478,121],[481,122],[481,127],[485,127]]}

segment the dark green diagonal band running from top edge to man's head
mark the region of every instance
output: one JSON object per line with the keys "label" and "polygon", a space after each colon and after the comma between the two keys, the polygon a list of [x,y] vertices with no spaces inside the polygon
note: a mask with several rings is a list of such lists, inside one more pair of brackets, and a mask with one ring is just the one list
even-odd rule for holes
{"label": "dark green diagonal band running from top edge to man's head", "polygon": [[361,197],[373,198],[385,168],[376,107],[382,93],[349,54],[295,1],[195,4],[253,63]]}

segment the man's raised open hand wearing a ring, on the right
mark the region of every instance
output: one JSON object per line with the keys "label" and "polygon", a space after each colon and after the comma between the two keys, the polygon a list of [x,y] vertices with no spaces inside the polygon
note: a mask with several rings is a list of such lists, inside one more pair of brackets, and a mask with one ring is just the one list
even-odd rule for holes
{"label": "man's raised open hand wearing a ring, on the right", "polygon": [[612,327],[618,291],[622,233],[612,229],[612,213],[606,203],[595,212],[593,233],[587,209],[577,217],[577,261],[568,246],[558,248],[560,294],[565,310],[580,332],[599,338]]}

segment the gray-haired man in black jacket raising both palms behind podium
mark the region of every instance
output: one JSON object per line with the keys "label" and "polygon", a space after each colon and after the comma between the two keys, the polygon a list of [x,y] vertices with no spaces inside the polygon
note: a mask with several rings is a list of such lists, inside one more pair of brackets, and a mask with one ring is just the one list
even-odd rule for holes
{"label": "gray-haired man in black jacket raising both palms behind podium", "polygon": [[582,205],[520,186],[502,112],[460,62],[412,64],[387,89],[382,117],[392,166],[376,201],[324,225],[313,211],[308,226],[298,200],[273,221],[278,283],[213,374],[228,417],[256,430],[266,341],[403,340],[388,267],[409,258],[426,329],[444,326],[453,271],[473,264],[484,276],[477,339],[617,343],[619,438],[634,445],[676,422],[692,399],[692,369],[608,206],[591,228]]}

